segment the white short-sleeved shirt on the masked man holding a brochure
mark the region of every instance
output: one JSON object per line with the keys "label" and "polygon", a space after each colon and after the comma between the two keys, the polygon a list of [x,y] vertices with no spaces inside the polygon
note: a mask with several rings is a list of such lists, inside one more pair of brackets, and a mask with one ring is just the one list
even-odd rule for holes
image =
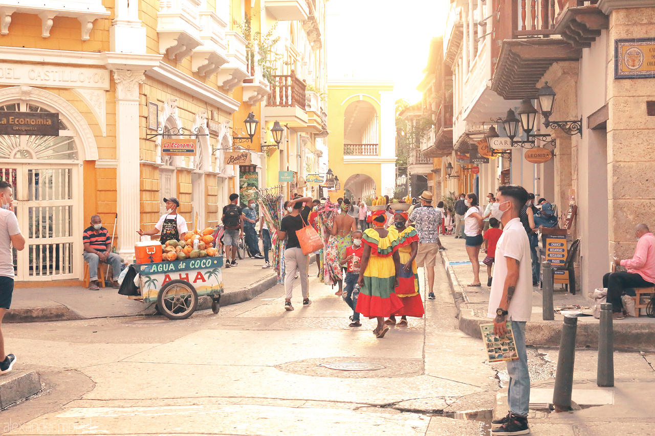
{"label": "white short-sleeved shirt on the masked man holding a brochure", "polygon": [[519,280],[516,283],[514,297],[508,308],[508,320],[530,321],[532,314],[532,259],[530,257],[530,242],[528,235],[518,218],[511,219],[502,230],[502,235],[496,244],[496,263],[493,270],[493,282],[489,295],[487,316],[496,318],[496,309],[500,306],[502,291],[507,277],[507,259],[511,257],[519,261]]}

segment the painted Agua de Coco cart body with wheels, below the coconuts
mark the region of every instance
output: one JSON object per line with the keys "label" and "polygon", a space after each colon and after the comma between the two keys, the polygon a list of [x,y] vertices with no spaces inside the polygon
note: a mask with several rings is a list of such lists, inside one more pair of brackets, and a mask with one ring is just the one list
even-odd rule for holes
{"label": "painted Agua de Coco cart body with wheels, below the coconuts", "polygon": [[168,319],[186,319],[198,307],[198,297],[212,297],[212,312],[219,311],[223,293],[223,257],[136,264],[141,295],[128,297],[157,303]]}

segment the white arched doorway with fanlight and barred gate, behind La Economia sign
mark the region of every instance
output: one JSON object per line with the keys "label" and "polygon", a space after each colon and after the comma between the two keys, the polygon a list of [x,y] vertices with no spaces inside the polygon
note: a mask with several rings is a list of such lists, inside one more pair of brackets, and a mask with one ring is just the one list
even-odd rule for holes
{"label": "white arched doorway with fanlight and barred gate, behind La Economia sign", "polygon": [[[88,136],[90,129],[56,94],[29,87],[18,92],[11,96],[10,88],[0,91],[0,115],[50,112],[59,113],[60,121],[58,136],[0,135],[0,179],[13,187],[16,217],[26,237],[26,248],[14,250],[16,281],[79,278],[84,228],[81,136]],[[94,160],[97,149],[95,154]]]}

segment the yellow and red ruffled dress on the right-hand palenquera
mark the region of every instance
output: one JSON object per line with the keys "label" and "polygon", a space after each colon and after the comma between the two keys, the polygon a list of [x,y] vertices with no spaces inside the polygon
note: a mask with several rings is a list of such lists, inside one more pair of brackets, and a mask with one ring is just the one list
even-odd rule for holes
{"label": "yellow and red ruffled dress on the right-hand palenquera", "polygon": [[403,308],[396,312],[395,315],[423,318],[425,310],[423,309],[423,300],[419,292],[419,274],[416,268],[416,261],[412,261],[411,270],[405,271],[403,268],[411,258],[412,242],[419,242],[419,234],[415,228],[411,226],[405,227],[398,234],[398,254],[400,255],[400,274],[398,276],[400,283],[396,287],[396,295],[400,297]]}

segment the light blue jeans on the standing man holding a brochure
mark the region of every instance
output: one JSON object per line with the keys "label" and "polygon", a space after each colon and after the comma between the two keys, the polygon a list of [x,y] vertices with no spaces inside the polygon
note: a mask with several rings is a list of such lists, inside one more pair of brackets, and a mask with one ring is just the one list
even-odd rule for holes
{"label": "light blue jeans on the standing man holding a brochure", "polygon": [[530,372],[528,371],[528,355],[525,352],[525,321],[512,321],[512,331],[519,359],[507,362],[507,372],[510,375],[507,402],[510,405],[510,412],[519,416],[528,416]]}

